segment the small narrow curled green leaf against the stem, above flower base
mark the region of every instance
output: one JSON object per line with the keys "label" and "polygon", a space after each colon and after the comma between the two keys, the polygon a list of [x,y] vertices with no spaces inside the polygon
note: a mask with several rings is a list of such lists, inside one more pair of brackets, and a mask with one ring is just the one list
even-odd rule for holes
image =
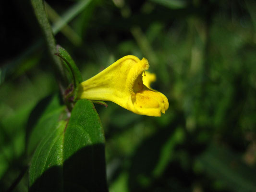
{"label": "small narrow curled green leaf against the stem, above flower base", "polygon": [[68,72],[73,78],[73,84],[74,84],[73,96],[75,99],[76,93],[78,91],[78,86],[82,82],[81,73],[77,68],[77,66],[75,65],[75,62],[73,61],[70,54],[64,48],[62,48],[60,45],[57,45],[57,51],[58,53],[55,53],[55,55],[59,56],[63,60],[65,67],[67,68]]}

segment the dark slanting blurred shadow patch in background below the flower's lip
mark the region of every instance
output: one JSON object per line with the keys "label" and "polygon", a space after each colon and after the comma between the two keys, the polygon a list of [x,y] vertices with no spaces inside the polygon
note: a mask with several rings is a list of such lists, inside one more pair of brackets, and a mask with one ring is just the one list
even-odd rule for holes
{"label": "dark slanting blurred shadow patch in background below the flower's lip", "polygon": [[[159,160],[162,147],[171,135],[176,131],[178,126],[184,127],[183,113],[177,114],[170,126],[159,128],[159,131],[147,138],[136,150],[131,162],[129,170],[129,190],[131,192],[151,191],[150,186],[143,187],[138,180],[144,182],[144,178],[149,180],[152,178],[152,173]],[[145,180],[146,181],[146,180]],[[147,182],[147,181],[146,181]],[[145,182],[145,183],[146,183]]]}

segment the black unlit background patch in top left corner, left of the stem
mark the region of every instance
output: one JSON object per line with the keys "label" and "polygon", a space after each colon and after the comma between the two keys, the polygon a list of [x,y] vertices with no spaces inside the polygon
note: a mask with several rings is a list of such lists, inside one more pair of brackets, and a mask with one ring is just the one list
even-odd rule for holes
{"label": "black unlit background patch in top left corner, left of the stem", "polygon": [[[21,50],[27,49],[38,38],[40,31],[30,1],[2,1],[0,12],[1,16],[4,15],[5,18],[8,18],[1,20],[0,40],[4,47],[1,59],[9,61],[19,56]],[[0,66],[3,64],[4,62],[1,62]]]}

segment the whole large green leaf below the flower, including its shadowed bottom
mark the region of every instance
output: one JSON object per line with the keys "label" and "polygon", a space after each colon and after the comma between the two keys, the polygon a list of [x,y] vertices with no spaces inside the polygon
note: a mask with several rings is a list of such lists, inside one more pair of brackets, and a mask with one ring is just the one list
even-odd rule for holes
{"label": "whole large green leaf below the flower, including its shadowed bottom", "polygon": [[33,156],[30,191],[106,192],[104,133],[91,101],[79,100]]}

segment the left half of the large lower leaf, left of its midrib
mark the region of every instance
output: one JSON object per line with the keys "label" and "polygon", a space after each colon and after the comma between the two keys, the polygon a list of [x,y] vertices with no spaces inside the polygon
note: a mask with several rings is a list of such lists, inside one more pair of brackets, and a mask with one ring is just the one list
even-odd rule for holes
{"label": "left half of the large lower leaf, left of its midrib", "polygon": [[31,192],[63,191],[63,138],[67,121],[60,121],[53,132],[40,142],[29,169]]}

